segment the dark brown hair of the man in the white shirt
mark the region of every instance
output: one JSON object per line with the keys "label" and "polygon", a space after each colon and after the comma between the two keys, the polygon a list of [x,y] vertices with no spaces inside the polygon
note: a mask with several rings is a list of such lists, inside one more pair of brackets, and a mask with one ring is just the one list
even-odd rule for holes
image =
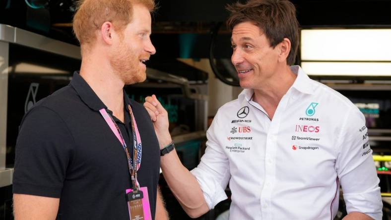
{"label": "dark brown hair of the man in the white shirt", "polygon": [[269,40],[270,46],[275,47],[284,38],[291,42],[291,50],[287,64],[295,62],[299,44],[299,22],[296,19],[296,8],[289,0],[249,0],[242,4],[236,2],[228,5],[231,12],[227,26],[232,31],[235,25],[251,21],[261,28]]}

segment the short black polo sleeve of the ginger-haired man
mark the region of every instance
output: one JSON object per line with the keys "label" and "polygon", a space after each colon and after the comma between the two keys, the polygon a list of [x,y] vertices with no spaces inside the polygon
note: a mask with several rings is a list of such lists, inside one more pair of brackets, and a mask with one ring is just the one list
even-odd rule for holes
{"label": "short black polo sleeve of the ginger-haired man", "polygon": [[73,144],[56,112],[40,106],[30,110],[16,141],[13,193],[60,198]]}

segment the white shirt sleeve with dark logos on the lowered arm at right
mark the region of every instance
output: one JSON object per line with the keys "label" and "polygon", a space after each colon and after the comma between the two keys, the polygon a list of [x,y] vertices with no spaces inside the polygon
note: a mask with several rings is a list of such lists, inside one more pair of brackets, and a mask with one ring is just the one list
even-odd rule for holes
{"label": "white shirt sleeve with dark logos on the lowered arm at right", "polygon": [[365,117],[352,109],[341,129],[336,169],[347,213],[364,213],[382,219],[382,198]]}

